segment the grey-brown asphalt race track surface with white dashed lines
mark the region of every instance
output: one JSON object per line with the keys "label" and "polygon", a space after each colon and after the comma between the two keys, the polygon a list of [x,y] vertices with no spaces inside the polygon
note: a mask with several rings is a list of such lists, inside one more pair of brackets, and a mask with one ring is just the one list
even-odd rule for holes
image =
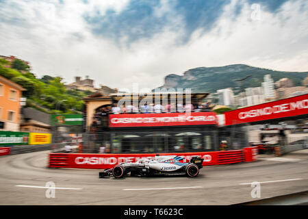
{"label": "grey-brown asphalt race track surface with white dashed lines", "polygon": [[[99,179],[99,170],[47,168],[48,153],[0,157],[0,205],[230,205],[308,190],[308,149],[206,166],[196,178]],[[260,198],[251,196],[254,181]]]}

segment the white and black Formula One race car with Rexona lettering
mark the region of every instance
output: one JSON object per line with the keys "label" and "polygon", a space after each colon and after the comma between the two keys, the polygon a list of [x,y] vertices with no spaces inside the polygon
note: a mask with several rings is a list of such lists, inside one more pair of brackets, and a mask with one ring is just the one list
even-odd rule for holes
{"label": "white and black Formula One race car with Rexona lettering", "polygon": [[187,175],[196,177],[199,169],[202,168],[203,159],[193,156],[189,162],[186,159],[176,155],[159,156],[155,159],[142,158],[135,163],[122,163],[99,172],[99,178],[113,175],[115,178],[121,178],[130,173],[131,176],[154,176],[154,175]]}

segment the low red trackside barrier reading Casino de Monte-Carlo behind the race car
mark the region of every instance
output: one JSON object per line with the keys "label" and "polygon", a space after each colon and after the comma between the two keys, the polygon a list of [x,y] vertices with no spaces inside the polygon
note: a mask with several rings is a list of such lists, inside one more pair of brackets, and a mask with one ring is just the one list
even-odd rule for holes
{"label": "low red trackside barrier reading Casino de Monte-Carlo behind the race car", "polygon": [[[141,158],[154,158],[155,153],[146,154],[87,154],[87,153],[50,153],[50,168],[88,168],[106,169],[123,162],[137,162]],[[203,166],[253,162],[257,155],[257,147],[248,147],[235,151],[209,151],[195,153],[159,153],[159,155],[178,155],[185,159],[192,156],[202,157]]]}

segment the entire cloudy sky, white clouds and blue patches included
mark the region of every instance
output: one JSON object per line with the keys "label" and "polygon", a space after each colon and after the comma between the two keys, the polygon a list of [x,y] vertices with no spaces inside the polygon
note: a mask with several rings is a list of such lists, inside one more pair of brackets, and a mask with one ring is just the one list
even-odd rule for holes
{"label": "entire cloudy sky, white clouds and blue patches included", "polygon": [[307,0],[0,0],[0,55],[32,72],[156,88],[196,67],[308,71]]}

